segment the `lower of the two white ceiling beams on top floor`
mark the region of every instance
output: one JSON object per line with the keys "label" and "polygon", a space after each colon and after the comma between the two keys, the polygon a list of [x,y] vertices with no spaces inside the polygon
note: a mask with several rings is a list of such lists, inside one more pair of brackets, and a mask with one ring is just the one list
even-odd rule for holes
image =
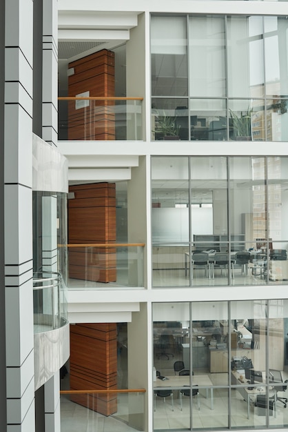
{"label": "lower of the two white ceiling beams on top floor", "polygon": [[58,40],[61,41],[109,41],[129,40],[129,30],[58,30]]}

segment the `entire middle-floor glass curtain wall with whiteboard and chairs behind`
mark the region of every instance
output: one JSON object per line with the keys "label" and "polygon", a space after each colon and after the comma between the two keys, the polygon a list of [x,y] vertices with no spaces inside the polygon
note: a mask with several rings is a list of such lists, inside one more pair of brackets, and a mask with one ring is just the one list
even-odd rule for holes
{"label": "entire middle-floor glass curtain wall with whiteboard and chairs behind", "polygon": [[153,286],[286,284],[287,157],[152,157]]}

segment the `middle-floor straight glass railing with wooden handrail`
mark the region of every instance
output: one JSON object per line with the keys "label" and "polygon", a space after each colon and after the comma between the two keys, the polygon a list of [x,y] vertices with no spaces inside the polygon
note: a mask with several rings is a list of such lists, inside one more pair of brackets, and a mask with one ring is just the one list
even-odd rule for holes
{"label": "middle-floor straight glass railing with wooden handrail", "polygon": [[68,244],[68,288],[143,287],[143,243]]}

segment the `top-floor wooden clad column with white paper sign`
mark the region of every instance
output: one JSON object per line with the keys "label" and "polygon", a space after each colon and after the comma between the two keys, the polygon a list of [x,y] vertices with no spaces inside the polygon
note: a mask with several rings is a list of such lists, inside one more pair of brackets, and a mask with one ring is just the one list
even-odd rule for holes
{"label": "top-floor wooden clad column with white paper sign", "polygon": [[[114,52],[101,50],[69,63],[69,97],[114,97]],[[115,139],[114,101],[69,101],[68,139]]]}

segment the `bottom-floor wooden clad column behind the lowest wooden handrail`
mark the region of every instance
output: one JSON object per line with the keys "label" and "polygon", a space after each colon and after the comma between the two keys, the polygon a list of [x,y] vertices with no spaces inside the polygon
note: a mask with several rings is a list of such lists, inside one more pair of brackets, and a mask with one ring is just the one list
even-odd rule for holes
{"label": "bottom-floor wooden clad column behind the lowest wooden handrail", "polygon": [[[70,389],[117,389],[116,323],[70,326]],[[117,411],[117,394],[71,395],[103,415]]]}

